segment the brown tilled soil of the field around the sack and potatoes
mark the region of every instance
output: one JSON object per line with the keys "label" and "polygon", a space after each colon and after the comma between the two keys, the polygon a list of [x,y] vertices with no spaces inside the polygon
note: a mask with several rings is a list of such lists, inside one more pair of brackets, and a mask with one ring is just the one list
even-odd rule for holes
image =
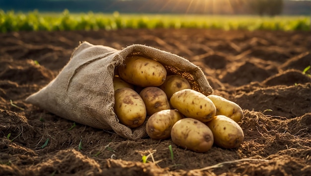
{"label": "brown tilled soil of the field around the sack and potatoes", "polygon": [[[311,64],[311,32],[124,29],[0,39],[1,176],[311,175],[311,79],[302,73]],[[130,141],[81,124],[69,130],[73,121],[25,103],[57,76],[79,41],[116,49],[146,44],[189,59],[215,94],[243,108],[244,142],[195,153],[170,139]]]}

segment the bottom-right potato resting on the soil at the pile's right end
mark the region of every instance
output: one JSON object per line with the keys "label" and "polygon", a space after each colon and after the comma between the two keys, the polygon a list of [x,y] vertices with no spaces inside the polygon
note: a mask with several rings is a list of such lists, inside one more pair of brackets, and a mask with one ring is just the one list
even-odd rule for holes
{"label": "bottom-right potato resting on the soil at the pile's right end", "polygon": [[233,119],[225,115],[216,115],[206,125],[212,130],[214,143],[219,147],[236,148],[244,140],[242,128]]}

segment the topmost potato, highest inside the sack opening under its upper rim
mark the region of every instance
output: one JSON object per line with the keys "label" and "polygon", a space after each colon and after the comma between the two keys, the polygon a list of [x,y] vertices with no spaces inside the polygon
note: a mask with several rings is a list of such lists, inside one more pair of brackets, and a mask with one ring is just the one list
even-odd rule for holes
{"label": "topmost potato, highest inside the sack opening under its upper rim", "polygon": [[164,83],[166,70],[159,62],[141,56],[129,57],[119,66],[119,76],[140,87],[157,87]]}

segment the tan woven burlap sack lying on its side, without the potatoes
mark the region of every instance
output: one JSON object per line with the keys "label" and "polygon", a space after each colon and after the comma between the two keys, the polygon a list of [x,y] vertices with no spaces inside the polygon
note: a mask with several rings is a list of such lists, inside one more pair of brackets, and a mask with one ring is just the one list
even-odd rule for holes
{"label": "tan woven burlap sack lying on its side, without the potatoes", "polygon": [[168,73],[182,75],[193,89],[205,95],[213,91],[200,68],[177,55],[144,45],[116,50],[83,42],[75,49],[60,74],[46,87],[27,97],[26,102],[81,124],[113,130],[130,140],[145,137],[146,122],[136,129],[130,129],[119,123],[113,110],[112,80],[115,68],[132,55],[142,55],[160,62]]}

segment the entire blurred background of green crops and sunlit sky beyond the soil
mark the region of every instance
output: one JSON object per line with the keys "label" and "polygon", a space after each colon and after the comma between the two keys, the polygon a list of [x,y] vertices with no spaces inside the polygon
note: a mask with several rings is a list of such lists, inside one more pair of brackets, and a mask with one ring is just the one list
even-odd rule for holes
{"label": "entire blurred background of green crops and sunlit sky beyond the soil", "polygon": [[121,28],[308,31],[310,5],[310,0],[0,0],[0,32]]}

